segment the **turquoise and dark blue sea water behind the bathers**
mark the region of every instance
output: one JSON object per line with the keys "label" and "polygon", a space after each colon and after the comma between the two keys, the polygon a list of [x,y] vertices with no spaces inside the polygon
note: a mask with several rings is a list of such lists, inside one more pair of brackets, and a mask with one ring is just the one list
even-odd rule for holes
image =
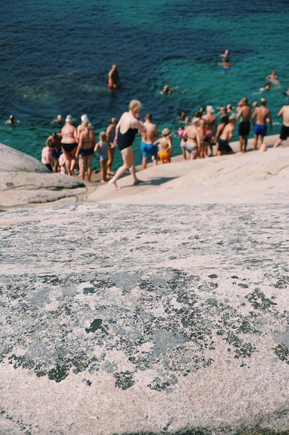
{"label": "turquoise and dark blue sea water behind the bathers", "polygon": [[[289,1],[287,0],[15,0],[1,5],[0,142],[40,158],[45,140],[58,131],[58,113],[76,123],[87,113],[96,133],[119,117],[130,99],[150,111],[159,132],[177,131],[179,110],[236,106],[268,99],[273,130],[288,100]],[[219,54],[231,51],[222,72]],[[121,87],[107,88],[111,65]],[[281,85],[261,91],[274,69]],[[160,95],[168,84],[172,95]],[[10,113],[19,124],[5,125]],[[237,129],[236,129],[237,130]],[[237,135],[235,134],[236,139]],[[250,136],[252,136],[252,131]],[[141,163],[140,139],[134,141]],[[173,140],[179,154],[179,139]],[[120,163],[116,152],[114,168]],[[95,162],[95,165],[97,163]]]}

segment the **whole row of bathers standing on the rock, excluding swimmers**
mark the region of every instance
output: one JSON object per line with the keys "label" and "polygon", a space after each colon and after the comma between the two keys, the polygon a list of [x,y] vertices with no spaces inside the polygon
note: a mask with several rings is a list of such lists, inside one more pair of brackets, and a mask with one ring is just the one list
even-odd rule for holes
{"label": "whole row of bathers standing on the rock, excluding swimmers", "polygon": [[[210,147],[211,156],[220,156],[223,154],[231,154],[233,151],[229,146],[229,141],[233,138],[234,127],[238,119],[239,124],[239,138],[240,138],[240,152],[247,151],[247,138],[249,133],[250,118],[252,117],[252,124],[256,120],[254,125],[254,146],[253,149],[261,147],[263,144],[263,138],[266,134],[266,124],[270,123],[272,126],[272,118],[270,110],[265,107],[267,100],[261,98],[261,106],[256,105],[252,115],[251,106],[249,105],[247,98],[243,97],[240,100],[237,108],[236,116],[229,117],[227,115],[227,107],[221,108],[220,114],[224,113],[218,123],[217,116],[213,115],[213,107],[207,106],[206,114],[203,112],[195,113],[195,117],[185,129],[182,130],[180,137],[181,147],[184,149],[185,159],[195,159],[207,157],[207,150]],[[283,129],[279,142],[275,147],[279,146],[281,140],[287,138],[286,132],[289,129],[287,120],[286,107],[280,110],[279,116],[283,115]],[[136,185],[140,181],[137,179],[136,171],[134,167],[134,152],[132,151],[132,143],[137,133],[141,136],[141,151],[143,154],[143,169],[146,169],[148,164],[148,156],[152,157],[153,165],[157,165],[158,161],[162,163],[170,162],[170,155],[173,149],[173,141],[170,136],[169,129],[163,129],[161,132],[161,138],[155,140],[158,136],[157,126],[152,123],[152,115],[146,114],[144,122],[141,120],[140,115],[141,104],[138,100],[132,100],[129,104],[128,112],[123,113],[119,122],[116,118],[110,120],[110,126],[107,127],[106,132],[102,132],[103,136],[98,141],[96,146],[96,139],[94,133],[94,127],[89,123],[87,115],[81,116],[81,124],[73,125],[71,115],[67,115],[65,124],[60,133],[53,133],[46,140],[46,146],[49,147],[53,158],[50,161],[50,157],[44,157],[47,154],[47,150],[44,150],[42,154],[42,161],[44,164],[49,165],[49,168],[54,171],[60,171],[60,164],[58,162],[60,158],[60,147],[65,158],[66,173],[72,175],[74,168],[78,164],[80,170],[80,177],[85,181],[85,175],[87,174],[87,181],[91,181],[92,167],[91,163],[94,158],[95,152],[100,152],[100,148],[105,146],[105,158],[100,155],[99,164],[101,171],[101,182],[109,181],[110,186],[119,189],[116,181],[127,170],[130,170],[132,174],[133,184]],[[104,136],[105,135],[105,136]],[[258,138],[260,140],[258,143]],[[286,137],[285,137],[286,136]],[[113,140],[113,142],[111,142]],[[58,143],[59,142],[59,143]],[[100,147],[101,143],[101,147]],[[109,168],[109,154],[108,150],[114,150],[118,145],[123,158],[123,165],[119,167],[119,170],[115,174],[108,172]],[[213,153],[213,146],[216,145],[216,151]],[[149,147],[149,149],[147,149]],[[159,148],[159,149],[158,149]],[[265,150],[265,149],[262,149]],[[50,165],[53,164],[53,167]],[[104,167],[105,165],[105,167]],[[110,164],[111,167],[111,164]],[[112,179],[107,177],[112,176]]]}

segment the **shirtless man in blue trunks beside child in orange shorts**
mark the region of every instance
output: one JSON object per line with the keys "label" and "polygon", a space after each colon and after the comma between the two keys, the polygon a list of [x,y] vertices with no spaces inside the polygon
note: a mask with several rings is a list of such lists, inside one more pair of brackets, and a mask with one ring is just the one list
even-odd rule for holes
{"label": "shirtless man in blue trunks beside child in orange shorts", "polygon": [[145,117],[146,131],[139,131],[141,135],[141,155],[143,156],[143,169],[146,169],[148,155],[152,156],[153,165],[157,165],[157,146],[154,145],[155,138],[159,136],[157,126],[152,124],[152,114],[147,113]]}

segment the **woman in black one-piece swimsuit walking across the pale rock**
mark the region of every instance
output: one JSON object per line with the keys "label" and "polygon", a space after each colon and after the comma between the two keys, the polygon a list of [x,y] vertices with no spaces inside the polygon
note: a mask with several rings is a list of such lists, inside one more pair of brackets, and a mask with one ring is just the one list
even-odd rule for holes
{"label": "woman in black one-piece swimsuit walking across the pale rock", "polygon": [[114,177],[108,182],[110,186],[119,190],[120,187],[117,186],[116,181],[123,175],[127,170],[130,170],[132,174],[132,184],[136,185],[141,181],[137,179],[134,167],[134,151],[132,151],[132,143],[134,142],[134,137],[137,132],[145,132],[146,126],[141,121],[141,103],[137,99],[132,99],[128,105],[128,112],[124,112],[121,115],[121,119],[116,125],[116,137],[114,138],[114,145],[118,145],[121,151],[121,156],[123,158],[123,165],[114,174]]}

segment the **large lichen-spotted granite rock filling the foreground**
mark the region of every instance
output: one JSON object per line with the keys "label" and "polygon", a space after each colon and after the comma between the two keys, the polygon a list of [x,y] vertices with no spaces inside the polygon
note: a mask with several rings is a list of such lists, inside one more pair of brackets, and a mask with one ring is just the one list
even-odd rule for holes
{"label": "large lichen-spotted granite rock filling the foreground", "polygon": [[288,434],[288,203],[1,213],[0,434]]}

